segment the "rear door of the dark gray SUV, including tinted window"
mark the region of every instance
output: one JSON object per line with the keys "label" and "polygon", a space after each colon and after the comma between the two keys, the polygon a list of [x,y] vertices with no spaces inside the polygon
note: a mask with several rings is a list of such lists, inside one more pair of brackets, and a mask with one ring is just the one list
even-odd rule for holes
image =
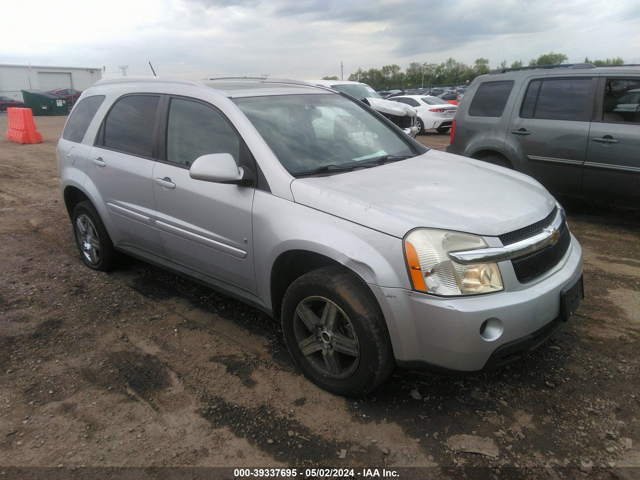
{"label": "rear door of the dark gray SUV, including tinted window", "polygon": [[530,77],[516,99],[505,141],[517,170],[548,190],[579,195],[597,76]]}

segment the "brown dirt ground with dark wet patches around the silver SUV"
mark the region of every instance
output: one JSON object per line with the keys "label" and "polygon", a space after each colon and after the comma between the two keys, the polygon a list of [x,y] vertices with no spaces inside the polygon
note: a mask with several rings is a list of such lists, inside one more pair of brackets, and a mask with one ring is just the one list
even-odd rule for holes
{"label": "brown dirt ground with dark wet patches around the silver SUV", "polygon": [[529,357],[458,380],[396,369],[353,401],[305,380],[255,308],[134,259],[85,268],[64,122],[36,117],[44,143],[17,145],[0,115],[0,465],[640,467],[637,212],[566,202],[586,298]]}

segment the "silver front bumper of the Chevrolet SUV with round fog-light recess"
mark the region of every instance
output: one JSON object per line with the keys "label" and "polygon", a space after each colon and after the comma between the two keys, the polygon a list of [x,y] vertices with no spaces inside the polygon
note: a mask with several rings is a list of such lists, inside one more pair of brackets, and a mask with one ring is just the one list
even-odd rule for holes
{"label": "silver front bumper of the Chevrolet SUV with round fog-light recess", "polygon": [[[539,346],[560,328],[560,294],[582,275],[582,249],[572,236],[553,269],[520,284],[510,261],[500,262],[505,291],[444,298],[370,285],[387,321],[396,362],[436,374],[468,374],[499,367]],[[480,327],[499,319],[502,334],[485,340]]]}

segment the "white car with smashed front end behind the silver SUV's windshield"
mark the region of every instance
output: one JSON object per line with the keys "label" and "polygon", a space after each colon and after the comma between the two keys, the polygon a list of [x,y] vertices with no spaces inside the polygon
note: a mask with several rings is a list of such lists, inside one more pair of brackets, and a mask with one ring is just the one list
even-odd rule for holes
{"label": "white car with smashed front end behind the silver SUV's windshield", "polygon": [[406,104],[398,105],[396,102],[390,102],[385,100],[378,92],[373,90],[366,83],[354,82],[354,81],[339,81],[339,80],[305,80],[307,83],[316,86],[324,86],[339,90],[340,92],[348,93],[351,97],[355,97],[361,100],[372,109],[378,111],[381,115],[391,120],[394,124],[400,127],[404,133],[412,138],[415,138],[419,131],[417,125],[417,112],[415,109],[410,108]]}

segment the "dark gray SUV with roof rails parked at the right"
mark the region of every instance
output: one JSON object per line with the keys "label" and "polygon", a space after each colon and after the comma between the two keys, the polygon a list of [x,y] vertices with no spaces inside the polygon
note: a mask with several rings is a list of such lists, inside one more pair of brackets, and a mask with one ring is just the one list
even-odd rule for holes
{"label": "dark gray SUV with roof rails parked at the right", "polygon": [[502,68],[460,101],[447,152],[531,175],[556,195],[640,205],[640,66]]}

